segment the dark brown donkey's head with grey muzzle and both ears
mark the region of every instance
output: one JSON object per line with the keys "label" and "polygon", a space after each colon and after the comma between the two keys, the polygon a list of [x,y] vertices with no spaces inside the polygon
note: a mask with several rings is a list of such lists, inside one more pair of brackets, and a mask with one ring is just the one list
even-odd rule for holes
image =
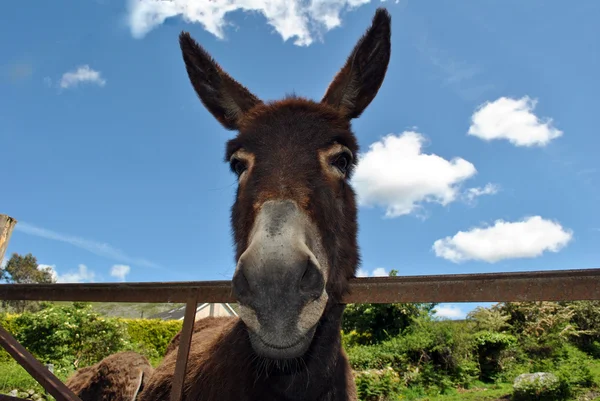
{"label": "dark brown donkey's head with grey muzzle and both ears", "polygon": [[390,59],[390,15],[371,27],[320,102],[263,103],[188,33],[180,35],[190,81],[210,113],[238,131],[225,160],[238,178],[231,224],[233,291],[255,352],[303,355],[328,305],[338,303],[359,261],[349,178],[358,144],[350,120],[377,94]]}

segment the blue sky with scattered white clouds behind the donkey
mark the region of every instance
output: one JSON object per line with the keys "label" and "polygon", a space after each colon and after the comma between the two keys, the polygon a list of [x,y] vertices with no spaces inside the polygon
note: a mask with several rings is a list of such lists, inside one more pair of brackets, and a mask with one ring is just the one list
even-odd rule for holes
{"label": "blue sky with scattered white clouds behind the donkey", "polygon": [[32,252],[60,281],[229,279],[233,133],[197,100],[177,35],[263,99],[320,99],[381,5],[392,58],[353,123],[360,274],[599,267],[592,1],[9,2],[7,256]]}

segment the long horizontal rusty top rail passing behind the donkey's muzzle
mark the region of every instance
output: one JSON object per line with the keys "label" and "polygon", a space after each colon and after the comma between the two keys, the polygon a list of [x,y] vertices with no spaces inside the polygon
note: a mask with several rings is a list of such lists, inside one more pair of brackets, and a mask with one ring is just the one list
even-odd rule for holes
{"label": "long horizontal rusty top rail passing behind the donkey's muzzle", "polygon": [[[4,284],[0,300],[236,302],[230,281]],[[356,278],[344,303],[515,302],[600,299],[600,269]]]}

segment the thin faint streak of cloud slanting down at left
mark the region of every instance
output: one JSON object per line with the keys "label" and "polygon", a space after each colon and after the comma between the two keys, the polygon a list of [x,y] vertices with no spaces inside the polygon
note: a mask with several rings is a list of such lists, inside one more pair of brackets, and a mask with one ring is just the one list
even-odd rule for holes
{"label": "thin faint streak of cloud slanting down at left", "polygon": [[65,242],[78,248],[85,249],[86,251],[92,252],[93,254],[104,256],[106,258],[113,259],[118,262],[131,263],[132,265],[139,265],[144,267],[159,267],[156,263],[150,262],[146,259],[130,257],[129,255],[125,254],[125,252],[121,251],[120,249],[114,248],[109,244],[91,241],[72,235],[57,233],[55,231],[50,231],[45,228],[36,227],[32,224],[28,224],[25,222],[19,222],[19,224],[15,226],[15,231],[20,231],[25,234],[35,235],[36,237],[51,239],[54,241]]}

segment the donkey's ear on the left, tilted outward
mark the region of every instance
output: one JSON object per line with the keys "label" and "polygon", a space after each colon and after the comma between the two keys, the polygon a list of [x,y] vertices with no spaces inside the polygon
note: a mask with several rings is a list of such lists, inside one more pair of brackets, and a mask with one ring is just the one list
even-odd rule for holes
{"label": "donkey's ear on the left, tilted outward", "polygon": [[185,69],[204,107],[229,130],[252,107],[262,103],[248,89],[231,78],[188,32],[179,35]]}

